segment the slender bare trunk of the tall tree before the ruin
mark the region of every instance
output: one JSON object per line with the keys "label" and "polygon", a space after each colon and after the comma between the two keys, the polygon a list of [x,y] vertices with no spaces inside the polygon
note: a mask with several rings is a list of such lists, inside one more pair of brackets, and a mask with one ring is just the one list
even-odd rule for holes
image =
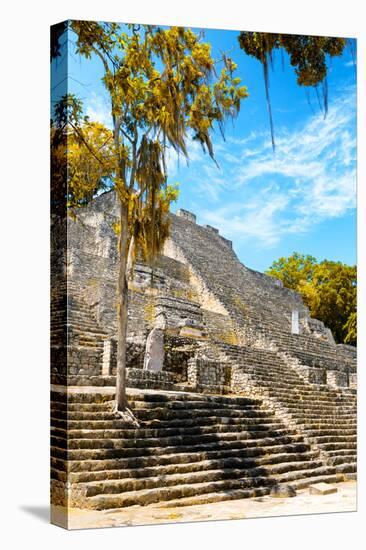
{"label": "slender bare trunk of the tall tree before the ruin", "polygon": [[128,285],[127,238],[128,210],[119,199],[121,231],[119,236],[119,271],[117,284],[117,371],[116,371],[116,409],[124,411],[127,407],[126,396],[126,350],[127,350],[127,317],[128,317]]}

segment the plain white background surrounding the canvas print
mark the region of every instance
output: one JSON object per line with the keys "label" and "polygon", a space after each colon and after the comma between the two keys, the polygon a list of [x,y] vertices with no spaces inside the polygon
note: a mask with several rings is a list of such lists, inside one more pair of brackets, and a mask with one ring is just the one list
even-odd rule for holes
{"label": "plain white background surrounding the canvas print", "polygon": [[[321,548],[361,546],[365,509],[365,308],[359,312],[359,510],[296,516],[67,533],[34,515],[48,506],[48,36],[66,18],[187,24],[212,28],[331,34],[358,38],[358,266],[359,304],[365,296],[366,36],[361,2],[246,3],[185,0],[113,2],[13,1],[2,8],[2,412],[3,536],[12,547],[40,548]],[[27,507],[33,507],[30,513]],[[42,514],[41,514],[42,515]],[[360,541],[360,542],[358,542]]]}

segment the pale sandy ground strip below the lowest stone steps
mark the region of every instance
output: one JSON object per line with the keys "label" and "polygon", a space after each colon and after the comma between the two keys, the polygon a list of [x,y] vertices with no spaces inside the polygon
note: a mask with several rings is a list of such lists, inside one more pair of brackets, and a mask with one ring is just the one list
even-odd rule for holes
{"label": "pale sandy ground strip below the lowest stone steps", "polygon": [[[131,506],[125,509],[102,512],[70,508],[68,528],[127,527],[132,525],[151,525],[158,523],[355,512],[357,508],[356,482],[347,481],[338,483],[335,486],[338,491],[331,495],[310,495],[309,490],[304,489],[299,491],[296,497],[292,498],[265,496],[165,509],[161,504]],[[62,525],[62,508],[53,506],[51,516],[53,518],[53,523]]]}

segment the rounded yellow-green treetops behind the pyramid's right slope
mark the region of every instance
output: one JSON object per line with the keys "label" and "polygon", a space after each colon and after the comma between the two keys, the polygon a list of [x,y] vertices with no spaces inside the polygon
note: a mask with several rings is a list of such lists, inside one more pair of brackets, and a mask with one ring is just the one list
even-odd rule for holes
{"label": "rounded yellow-green treetops behind the pyramid's right slope", "polygon": [[299,292],[312,317],[329,327],[337,342],[357,342],[357,269],[341,262],[294,253],[266,271]]}

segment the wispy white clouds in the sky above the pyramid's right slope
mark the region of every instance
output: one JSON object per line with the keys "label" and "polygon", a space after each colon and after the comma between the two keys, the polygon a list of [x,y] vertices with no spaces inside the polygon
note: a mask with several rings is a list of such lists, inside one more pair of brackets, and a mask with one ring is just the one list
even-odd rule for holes
{"label": "wispy white clouds in the sky above the pyramid's right slope", "polygon": [[204,198],[201,221],[229,238],[273,247],[354,209],[355,104],[348,89],[325,119],[316,114],[291,130],[276,128],[275,154],[267,134],[252,133],[220,143],[221,170],[198,156],[191,168]]}

